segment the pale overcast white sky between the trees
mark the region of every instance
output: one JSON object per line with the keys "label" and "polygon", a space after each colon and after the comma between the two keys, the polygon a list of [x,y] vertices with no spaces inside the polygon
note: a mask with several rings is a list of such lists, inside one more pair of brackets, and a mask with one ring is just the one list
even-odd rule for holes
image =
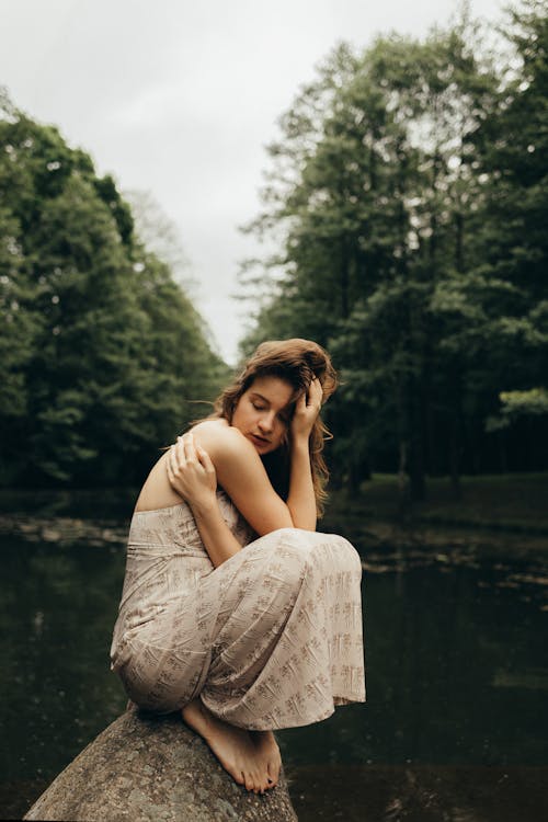
{"label": "pale overcast white sky between the trees", "polygon": [[[498,22],[502,0],[471,0]],[[231,299],[256,252],[264,146],[299,85],[341,39],[423,35],[453,0],[0,0],[0,84],[57,125],[122,190],[150,192],[176,225],[197,307],[229,362],[244,324]]]}

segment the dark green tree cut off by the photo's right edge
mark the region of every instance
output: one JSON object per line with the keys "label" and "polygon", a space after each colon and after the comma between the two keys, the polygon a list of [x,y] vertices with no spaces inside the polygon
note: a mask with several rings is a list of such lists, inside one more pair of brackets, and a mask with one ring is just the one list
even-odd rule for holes
{"label": "dark green tree cut off by the photo's right edge", "polygon": [[[509,294],[498,318],[491,358],[500,419],[507,423],[537,415],[538,398],[548,388],[547,3],[528,0],[511,11],[506,36],[515,47],[518,68],[477,142],[488,191],[484,271],[503,282]],[[509,400],[512,397],[518,400]],[[493,402],[489,411],[496,411]]]}

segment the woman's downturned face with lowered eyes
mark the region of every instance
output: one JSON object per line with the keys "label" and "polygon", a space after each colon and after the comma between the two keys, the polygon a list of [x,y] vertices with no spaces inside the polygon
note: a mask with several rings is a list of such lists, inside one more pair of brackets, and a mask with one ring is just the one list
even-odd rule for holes
{"label": "woman's downturned face with lowered eyes", "polygon": [[238,400],[232,425],[259,452],[270,454],[282,445],[290,420],[293,388],[279,377],[255,377]]}

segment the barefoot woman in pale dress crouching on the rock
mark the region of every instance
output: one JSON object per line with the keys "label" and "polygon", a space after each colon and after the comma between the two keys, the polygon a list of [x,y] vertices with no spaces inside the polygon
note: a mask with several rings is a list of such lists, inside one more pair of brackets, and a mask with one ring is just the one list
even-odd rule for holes
{"label": "barefoot woman in pale dress crouching on the rock", "polygon": [[278,779],[274,729],[365,700],[359,557],[315,530],[335,385],[316,343],[260,345],[152,468],[129,532],[113,670],[255,792]]}

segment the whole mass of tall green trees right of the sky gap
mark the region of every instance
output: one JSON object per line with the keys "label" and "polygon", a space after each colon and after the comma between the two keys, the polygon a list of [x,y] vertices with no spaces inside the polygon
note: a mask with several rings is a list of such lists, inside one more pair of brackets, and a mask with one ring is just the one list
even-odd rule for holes
{"label": "whole mass of tall green trees right of the sky gap", "polygon": [[501,391],[545,380],[541,4],[512,12],[506,36],[502,83],[466,9],[423,41],[339,46],[270,147],[248,230],[278,252],[243,267],[243,288],[266,281],[243,351],[265,335],[328,346],[343,376],[334,461],[352,486],[399,469],[421,498],[426,473],[458,492],[463,468],[506,469],[514,432],[501,441],[488,420]]}

